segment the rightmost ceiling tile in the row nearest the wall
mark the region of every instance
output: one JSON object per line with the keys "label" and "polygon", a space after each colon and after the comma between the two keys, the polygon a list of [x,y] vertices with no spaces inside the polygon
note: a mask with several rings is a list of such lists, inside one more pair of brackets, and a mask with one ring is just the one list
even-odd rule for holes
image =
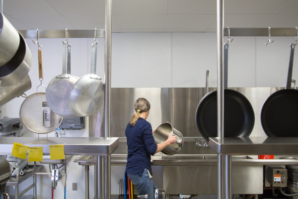
{"label": "rightmost ceiling tile in the row nearest the wall", "polygon": [[298,14],[272,14],[259,23],[256,28],[292,28],[298,24]]}

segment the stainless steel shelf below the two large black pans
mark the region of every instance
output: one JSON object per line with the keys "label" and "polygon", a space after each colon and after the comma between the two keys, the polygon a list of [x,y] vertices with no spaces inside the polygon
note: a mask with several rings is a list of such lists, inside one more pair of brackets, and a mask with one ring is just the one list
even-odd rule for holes
{"label": "stainless steel shelf below the two large black pans", "polygon": [[209,146],[221,155],[297,155],[298,137],[211,137]]}

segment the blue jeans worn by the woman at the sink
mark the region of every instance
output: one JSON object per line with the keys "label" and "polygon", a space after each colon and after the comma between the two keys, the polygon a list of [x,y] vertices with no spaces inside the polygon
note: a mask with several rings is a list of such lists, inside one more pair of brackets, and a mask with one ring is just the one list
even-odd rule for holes
{"label": "blue jeans worn by the woman at the sink", "polygon": [[139,196],[148,194],[148,199],[154,199],[154,192],[157,189],[156,185],[149,178],[148,169],[145,169],[142,176],[137,174],[127,174],[128,178],[136,186]]}

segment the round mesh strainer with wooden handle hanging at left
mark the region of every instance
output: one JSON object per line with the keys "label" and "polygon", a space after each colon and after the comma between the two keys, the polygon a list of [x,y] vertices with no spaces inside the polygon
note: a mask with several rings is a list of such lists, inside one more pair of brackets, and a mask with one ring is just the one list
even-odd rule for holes
{"label": "round mesh strainer with wooden handle hanging at left", "polygon": [[[39,46],[41,47],[41,46]],[[42,49],[38,48],[38,71],[40,86],[43,80]],[[37,93],[28,96],[20,107],[20,119],[26,128],[34,133],[49,133],[57,129],[63,117],[55,114],[47,105],[46,94]]]}

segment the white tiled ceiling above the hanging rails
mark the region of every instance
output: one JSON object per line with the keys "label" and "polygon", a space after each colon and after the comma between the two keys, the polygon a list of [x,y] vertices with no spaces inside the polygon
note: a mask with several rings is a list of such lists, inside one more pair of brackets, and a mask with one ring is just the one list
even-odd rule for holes
{"label": "white tiled ceiling above the hanging rails", "polygon": [[[112,32],[216,32],[216,0],[113,0]],[[298,0],[225,0],[224,27],[296,27]],[[18,30],[103,29],[105,0],[3,0]]]}

